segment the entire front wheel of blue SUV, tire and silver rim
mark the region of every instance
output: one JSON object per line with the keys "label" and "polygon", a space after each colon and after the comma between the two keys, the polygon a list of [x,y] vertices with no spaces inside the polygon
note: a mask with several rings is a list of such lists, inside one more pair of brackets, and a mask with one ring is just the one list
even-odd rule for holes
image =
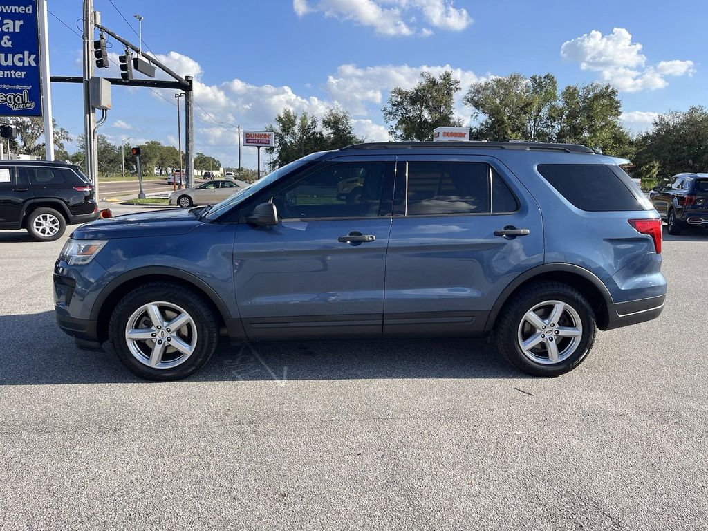
{"label": "entire front wheel of blue SUV, tire and silver rim", "polygon": [[200,295],[156,283],[138,287],[120,301],[108,336],[118,358],[136,375],[171,380],[188,377],[211,358],[219,330]]}

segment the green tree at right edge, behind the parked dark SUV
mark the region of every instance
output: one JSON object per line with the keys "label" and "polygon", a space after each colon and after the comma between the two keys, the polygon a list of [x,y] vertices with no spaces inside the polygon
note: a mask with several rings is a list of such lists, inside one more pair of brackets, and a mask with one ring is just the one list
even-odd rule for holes
{"label": "green tree at right edge, behind the parked dark SUV", "polygon": [[651,131],[636,139],[636,164],[658,163],[658,178],[682,171],[708,171],[708,110],[692,106],[654,120]]}

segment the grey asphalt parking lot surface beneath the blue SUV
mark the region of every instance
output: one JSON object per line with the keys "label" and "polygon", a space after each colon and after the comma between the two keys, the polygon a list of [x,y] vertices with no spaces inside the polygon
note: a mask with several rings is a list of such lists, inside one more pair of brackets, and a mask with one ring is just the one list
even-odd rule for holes
{"label": "grey asphalt parking lot surface beneath the blue SUV", "polygon": [[665,232],[661,317],[556,379],[455,340],[144,382],[57,328],[64,240],[0,232],[1,530],[708,529],[708,232]]}

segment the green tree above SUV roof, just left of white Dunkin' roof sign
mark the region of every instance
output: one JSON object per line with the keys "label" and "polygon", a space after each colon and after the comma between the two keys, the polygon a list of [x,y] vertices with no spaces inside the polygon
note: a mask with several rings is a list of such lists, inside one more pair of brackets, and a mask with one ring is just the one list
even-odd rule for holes
{"label": "green tree above SUV roof, just left of white Dunkin' roof sign", "polygon": [[391,124],[389,132],[396,140],[432,140],[435,127],[462,125],[462,120],[455,118],[459,80],[450,71],[438,77],[421,72],[421,77],[422,81],[410,91],[399,86],[392,89],[382,108],[384,120]]}

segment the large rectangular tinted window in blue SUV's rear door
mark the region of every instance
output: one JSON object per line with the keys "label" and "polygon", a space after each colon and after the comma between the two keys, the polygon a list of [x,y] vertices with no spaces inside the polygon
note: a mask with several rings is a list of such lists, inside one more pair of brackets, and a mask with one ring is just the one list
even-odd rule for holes
{"label": "large rectangular tinted window in blue SUV's rear door", "polygon": [[409,162],[409,216],[489,212],[489,166],[479,162]]}

